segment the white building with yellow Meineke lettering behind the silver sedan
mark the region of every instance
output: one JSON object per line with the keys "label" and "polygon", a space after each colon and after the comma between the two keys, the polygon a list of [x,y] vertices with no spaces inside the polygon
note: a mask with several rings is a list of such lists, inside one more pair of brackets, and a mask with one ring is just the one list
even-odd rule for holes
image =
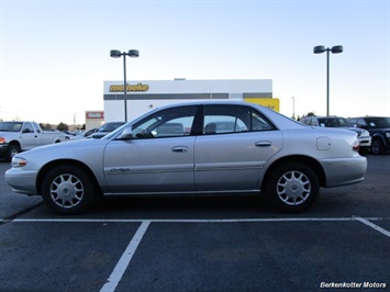
{"label": "white building with yellow Meineke lettering behind the silver sedan", "polygon": [[[86,112],[86,126],[124,121],[123,81],[104,81],[104,111]],[[271,79],[131,80],[126,85],[127,121],[161,105],[201,100],[243,100],[279,111]]]}

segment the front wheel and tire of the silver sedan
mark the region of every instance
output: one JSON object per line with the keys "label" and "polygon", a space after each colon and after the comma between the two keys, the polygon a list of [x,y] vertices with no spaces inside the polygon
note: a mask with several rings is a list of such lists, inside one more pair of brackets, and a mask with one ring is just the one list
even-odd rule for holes
{"label": "front wheel and tire of the silver sedan", "polygon": [[96,189],[82,169],[59,166],[43,180],[42,198],[48,210],[60,215],[85,213],[96,202]]}

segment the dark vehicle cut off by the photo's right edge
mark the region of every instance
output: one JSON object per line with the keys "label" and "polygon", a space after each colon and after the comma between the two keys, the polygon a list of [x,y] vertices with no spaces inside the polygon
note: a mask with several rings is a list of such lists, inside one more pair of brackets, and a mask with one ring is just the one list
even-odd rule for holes
{"label": "dark vehicle cut off by the photo's right edge", "polygon": [[376,155],[390,151],[390,117],[360,116],[348,121],[358,128],[367,130],[372,138],[371,151]]}

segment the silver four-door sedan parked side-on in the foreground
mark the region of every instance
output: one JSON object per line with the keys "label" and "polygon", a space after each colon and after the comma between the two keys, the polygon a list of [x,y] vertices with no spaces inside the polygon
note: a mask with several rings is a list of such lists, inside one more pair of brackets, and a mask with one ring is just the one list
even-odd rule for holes
{"label": "silver four-door sedan parked side-on in the foreground", "polygon": [[302,212],[320,187],[364,180],[358,149],[352,131],[308,126],[247,102],[199,101],[155,109],[101,139],[19,154],[5,181],[58,214],[86,212],[99,195],[260,191],[281,211]]}

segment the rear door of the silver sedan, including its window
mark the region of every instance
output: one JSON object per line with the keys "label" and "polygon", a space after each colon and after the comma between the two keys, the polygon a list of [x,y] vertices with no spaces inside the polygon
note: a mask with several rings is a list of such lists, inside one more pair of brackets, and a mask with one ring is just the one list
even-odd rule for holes
{"label": "rear door of the silver sedan, including its window", "polygon": [[258,190],[264,165],[282,146],[280,132],[246,105],[205,105],[203,128],[196,141],[197,191]]}

